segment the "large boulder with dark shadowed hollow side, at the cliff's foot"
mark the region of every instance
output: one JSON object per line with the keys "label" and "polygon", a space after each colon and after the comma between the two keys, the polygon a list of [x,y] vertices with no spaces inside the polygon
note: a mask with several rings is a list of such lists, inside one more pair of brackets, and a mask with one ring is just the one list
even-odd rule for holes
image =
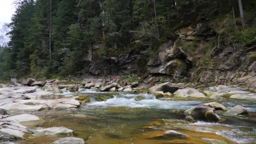
{"label": "large boulder with dark shadowed hollow side, at the cliff's foot", "polygon": [[184,88],[184,83],[161,83],[159,85],[155,85],[151,88],[149,88],[149,93],[154,94],[155,91],[163,91],[164,93],[170,92],[170,93],[174,93],[175,91],[177,91],[179,88]]}

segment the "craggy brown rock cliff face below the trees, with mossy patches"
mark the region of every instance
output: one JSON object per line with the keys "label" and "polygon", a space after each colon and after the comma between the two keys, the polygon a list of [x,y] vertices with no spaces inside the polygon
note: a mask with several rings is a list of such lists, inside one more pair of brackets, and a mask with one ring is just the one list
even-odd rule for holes
{"label": "craggy brown rock cliff face below the trees, with mossy patches", "polygon": [[[83,77],[131,75],[141,82],[186,82],[198,85],[246,85],[255,87],[256,41],[244,45],[217,34],[209,24],[176,31],[176,37],[160,45],[149,57],[127,51],[116,57],[100,57],[104,43],[88,49]],[[252,78],[253,77],[253,78]]]}

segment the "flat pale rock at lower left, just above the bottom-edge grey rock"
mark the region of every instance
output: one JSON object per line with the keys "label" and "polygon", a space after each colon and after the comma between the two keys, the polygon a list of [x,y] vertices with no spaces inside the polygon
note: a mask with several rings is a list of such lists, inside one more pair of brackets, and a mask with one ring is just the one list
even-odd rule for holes
{"label": "flat pale rock at lower left, just above the bottom-edge grey rock", "polygon": [[65,127],[53,127],[53,128],[42,128],[37,129],[37,132],[44,133],[46,135],[55,135],[55,134],[67,134],[70,135],[73,133],[73,130]]}

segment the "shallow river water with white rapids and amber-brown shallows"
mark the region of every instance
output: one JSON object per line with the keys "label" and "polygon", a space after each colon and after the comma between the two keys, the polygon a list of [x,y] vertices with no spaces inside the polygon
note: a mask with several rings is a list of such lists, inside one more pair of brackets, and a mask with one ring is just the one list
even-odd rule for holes
{"label": "shallow river water with white rapids and amber-brown shallows", "polygon": [[[43,128],[70,128],[74,130],[75,137],[84,139],[88,144],[256,143],[256,104],[253,102],[229,99],[220,102],[228,109],[236,104],[246,107],[249,111],[247,119],[223,117],[226,120],[220,123],[189,123],[184,121],[182,112],[209,102],[209,99],[155,99],[151,94],[96,92],[85,89],[80,89],[79,93],[62,91],[63,94],[55,95],[51,99],[86,95],[90,97],[91,102],[82,104],[77,109],[43,110],[32,114],[46,120]],[[113,95],[114,98],[97,101],[102,95]],[[146,99],[135,101],[136,96],[145,96]],[[186,134],[187,138],[160,138],[159,135],[167,130]],[[63,137],[67,136],[31,136],[29,139],[32,143],[49,144]]]}

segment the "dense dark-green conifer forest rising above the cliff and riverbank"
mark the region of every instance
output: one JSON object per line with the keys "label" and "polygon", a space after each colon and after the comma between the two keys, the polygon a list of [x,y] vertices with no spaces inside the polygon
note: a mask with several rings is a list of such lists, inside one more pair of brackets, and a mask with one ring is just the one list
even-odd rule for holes
{"label": "dense dark-green conifer forest rising above the cliff and riverbank", "polygon": [[[213,23],[215,33],[256,39],[256,2],[244,0],[16,0],[10,40],[0,49],[0,78],[81,75],[88,48],[105,43],[99,57],[136,51],[148,57],[175,31]],[[230,19],[228,32],[215,21]],[[235,24],[234,24],[235,21]],[[214,23],[215,22],[215,23]]]}

